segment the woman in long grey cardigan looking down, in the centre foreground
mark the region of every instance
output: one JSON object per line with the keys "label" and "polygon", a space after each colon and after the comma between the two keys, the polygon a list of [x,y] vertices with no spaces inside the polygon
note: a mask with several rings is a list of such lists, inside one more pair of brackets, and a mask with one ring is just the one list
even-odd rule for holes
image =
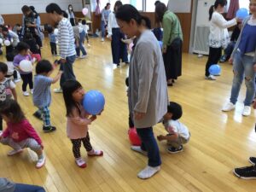
{"label": "woman in long grey cardigan looking down, in the centre foreground", "polygon": [[166,73],[161,50],[153,32],[143,25],[136,8],[125,4],[117,10],[119,26],[128,38],[137,37],[129,68],[129,93],[134,125],[141,138],[140,147],[131,149],[148,155],[148,166],[137,177],[149,178],[160,171],[160,152],[154,138],[153,126],[167,111]]}

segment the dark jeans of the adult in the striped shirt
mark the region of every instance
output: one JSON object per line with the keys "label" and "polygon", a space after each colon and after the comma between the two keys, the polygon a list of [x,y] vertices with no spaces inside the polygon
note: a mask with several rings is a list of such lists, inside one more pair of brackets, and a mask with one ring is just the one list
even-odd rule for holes
{"label": "dark jeans of the adult in the striped shirt", "polygon": [[69,79],[76,79],[76,76],[73,73],[73,62],[76,60],[76,55],[67,56],[66,62],[61,63],[60,70],[63,71],[61,74],[60,85],[62,85]]}

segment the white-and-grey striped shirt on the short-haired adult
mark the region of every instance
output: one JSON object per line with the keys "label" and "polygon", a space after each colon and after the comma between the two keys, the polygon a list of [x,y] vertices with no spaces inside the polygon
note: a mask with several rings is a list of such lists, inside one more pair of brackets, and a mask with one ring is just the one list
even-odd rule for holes
{"label": "white-and-grey striped shirt on the short-haired adult", "polygon": [[61,58],[66,59],[67,56],[76,55],[73,27],[67,18],[63,18],[60,21],[58,31],[58,42]]}

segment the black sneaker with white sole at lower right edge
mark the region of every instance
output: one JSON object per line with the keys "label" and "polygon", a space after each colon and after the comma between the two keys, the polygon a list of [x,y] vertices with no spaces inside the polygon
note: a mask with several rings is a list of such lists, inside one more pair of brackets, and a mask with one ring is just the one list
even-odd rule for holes
{"label": "black sneaker with white sole at lower right edge", "polygon": [[256,179],[256,166],[245,166],[234,169],[234,174],[242,179]]}

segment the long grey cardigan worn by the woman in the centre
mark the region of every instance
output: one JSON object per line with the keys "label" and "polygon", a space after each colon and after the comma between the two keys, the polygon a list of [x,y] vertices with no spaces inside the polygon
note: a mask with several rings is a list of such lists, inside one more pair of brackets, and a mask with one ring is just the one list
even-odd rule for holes
{"label": "long grey cardigan worn by the woman in the centre", "polygon": [[134,125],[151,127],[166,114],[168,105],[164,61],[153,32],[146,30],[137,38],[131,58],[128,90],[131,113],[146,113],[143,119],[134,118]]}

